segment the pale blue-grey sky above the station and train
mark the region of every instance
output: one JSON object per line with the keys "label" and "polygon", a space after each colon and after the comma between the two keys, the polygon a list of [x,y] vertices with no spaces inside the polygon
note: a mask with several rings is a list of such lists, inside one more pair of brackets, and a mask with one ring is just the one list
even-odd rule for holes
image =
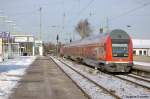
{"label": "pale blue-grey sky above the station and train", "polygon": [[[94,32],[100,26],[120,28],[133,38],[150,39],[149,0],[0,0],[0,16],[8,16],[22,34],[39,34],[39,8],[42,7],[42,39],[56,42],[78,39],[74,27],[81,19],[88,19]],[[65,15],[64,15],[65,13]],[[1,31],[3,28],[2,19]],[[131,27],[127,27],[130,25]],[[53,27],[56,26],[56,27]],[[64,26],[64,29],[62,29]],[[5,26],[6,27],[6,26]]]}

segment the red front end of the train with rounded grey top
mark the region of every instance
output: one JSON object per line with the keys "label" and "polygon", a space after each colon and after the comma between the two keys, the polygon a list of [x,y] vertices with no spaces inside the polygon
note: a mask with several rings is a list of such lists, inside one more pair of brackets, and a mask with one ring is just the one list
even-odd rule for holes
{"label": "red front end of the train with rounded grey top", "polygon": [[106,40],[106,60],[103,67],[110,72],[129,72],[133,66],[130,36],[123,30],[113,30]]}

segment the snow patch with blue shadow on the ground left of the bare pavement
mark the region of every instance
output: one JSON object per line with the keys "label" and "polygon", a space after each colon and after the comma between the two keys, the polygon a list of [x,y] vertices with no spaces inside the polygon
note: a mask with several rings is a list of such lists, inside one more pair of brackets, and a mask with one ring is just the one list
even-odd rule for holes
{"label": "snow patch with blue shadow on the ground left of the bare pavement", "polygon": [[17,57],[0,63],[0,99],[7,99],[36,57]]}

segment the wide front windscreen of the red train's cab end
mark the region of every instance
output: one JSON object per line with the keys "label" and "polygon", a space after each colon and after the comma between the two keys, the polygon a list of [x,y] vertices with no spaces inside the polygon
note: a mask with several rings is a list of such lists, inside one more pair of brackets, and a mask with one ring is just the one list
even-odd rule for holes
{"label": "wide front windscreen of the red train's cab end", "polygon": [[128,57],[128,44],[112,44],[113,57]]}

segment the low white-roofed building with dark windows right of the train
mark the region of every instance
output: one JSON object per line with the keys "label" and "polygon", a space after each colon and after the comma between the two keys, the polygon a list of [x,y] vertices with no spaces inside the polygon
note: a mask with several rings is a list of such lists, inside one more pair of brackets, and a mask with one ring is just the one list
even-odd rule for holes
{"label": "low white-roofed building with dark windows right of the train", "polygon": [[150,40],[133,39],[133,54],[137,56],[150,56]]}

